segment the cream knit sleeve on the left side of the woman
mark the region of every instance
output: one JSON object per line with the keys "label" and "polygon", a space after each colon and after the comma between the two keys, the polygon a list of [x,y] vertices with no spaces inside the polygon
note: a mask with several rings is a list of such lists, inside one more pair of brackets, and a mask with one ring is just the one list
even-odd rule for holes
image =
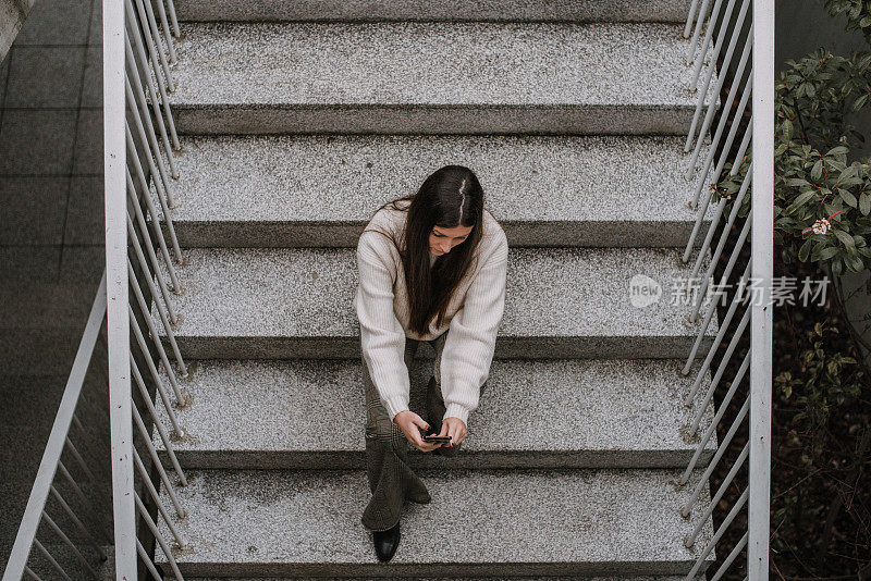
{"label": "cream knit sleeve on the left side of the woman", "polygon": [[390,420],[408,409],[405,331],[393,312],[393,275],[382,257],[389,250],[381,235],[364,232],[357,243],[359,283],[355,296],[360,348],[369,375]]}

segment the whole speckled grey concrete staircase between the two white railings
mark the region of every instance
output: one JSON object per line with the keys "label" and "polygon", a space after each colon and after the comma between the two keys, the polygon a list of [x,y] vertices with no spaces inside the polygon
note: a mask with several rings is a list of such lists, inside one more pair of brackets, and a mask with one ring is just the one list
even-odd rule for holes
{"label": "whole speckled grey concrete staircase between the two white railings", "polygon": [[[695,218],[687,4],[176,0],[187,579],[690,570],[712,530],[684,546],[701,472],[675,485],[695,452],[678,371],[697,327],[668,296]],[[462,453],[410,450],[433,502],[407,505],[381,564],[359,522],[354,247],[445,163],[478,173],[506,231],[505,316]],[[630,304],[636,274],[659,302]]]}

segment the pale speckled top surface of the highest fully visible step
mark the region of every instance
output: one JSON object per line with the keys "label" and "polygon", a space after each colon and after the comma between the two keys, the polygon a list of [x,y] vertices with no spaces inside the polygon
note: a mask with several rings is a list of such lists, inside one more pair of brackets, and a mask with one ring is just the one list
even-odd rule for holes
{"label": "pale speckled top surface of the highest fully visible step", "polygon": [[183,24],[173,104],[695,108],[659,23]]}

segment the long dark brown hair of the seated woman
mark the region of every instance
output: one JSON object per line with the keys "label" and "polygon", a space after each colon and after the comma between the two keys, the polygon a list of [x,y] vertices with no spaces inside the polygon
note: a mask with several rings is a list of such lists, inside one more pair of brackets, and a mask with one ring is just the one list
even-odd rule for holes
{"label": "long dark brown hair of the seated woman", "polygon": [[[402,205],[403,201],[410,205]],[[422,335],[429,331],[433,317],[438,317],[436,326],[442,325],[451,296],[475,260],[483,227],[483,189],[468,168],[445,165],[431,173],[416,194],[393,199],[376,213],[388,207],[406,212],[404,247],[390,237],[405,269],[409,327]],[[430,269],[429,235],[433,226],[473,228],[466,239],[439,256]]]}

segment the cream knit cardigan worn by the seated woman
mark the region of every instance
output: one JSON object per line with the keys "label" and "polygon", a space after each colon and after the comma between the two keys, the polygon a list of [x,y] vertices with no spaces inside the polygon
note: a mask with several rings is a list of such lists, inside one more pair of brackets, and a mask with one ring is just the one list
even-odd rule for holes
{"label": "cream knit cardigan worn by the seated woman", "polygon": [[[403,202],[400,202],[403,203]],[[407,208],[407,202],[404,202]],[[382,233],[393,233],[405,245],[406,212],[383,208],[357,243],[359,279],[354,305],[360,323],[360,347],[372,383],[391,421],[408,409],[409,379],[405,366],[405,338],[431,341],[445,331],[441,364],[433,366],[446,411],[444,418],[468,416],[478,407],[480,387],[490,373],[496,331],[505,307],[508,244],[499,222],[484,209],[483,232],[473,260],[447,305],[445,320],[418,335],[408,330],[405,271],[396,246]],[[430,264],[434,257],[430,255]]]}

